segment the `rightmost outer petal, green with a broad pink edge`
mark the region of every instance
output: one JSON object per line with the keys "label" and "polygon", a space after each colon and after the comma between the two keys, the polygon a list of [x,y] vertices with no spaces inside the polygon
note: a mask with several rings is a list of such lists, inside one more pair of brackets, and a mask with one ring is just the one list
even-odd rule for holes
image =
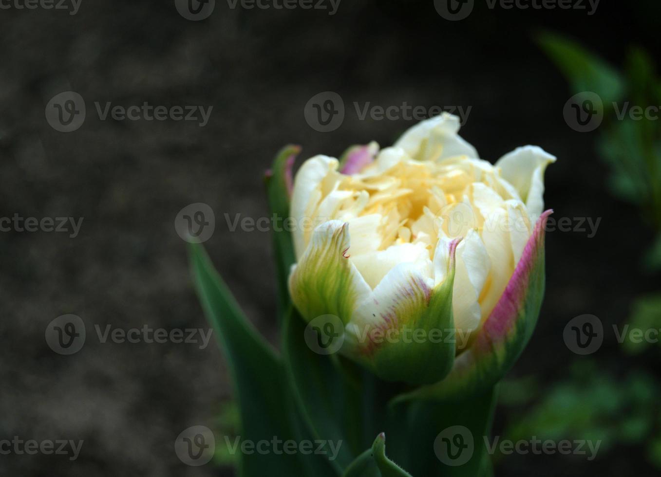
{"label": "rightmost outer petal, green with a broad pink edge", "polygon": [[548,210],[539,217],[498,304],[471,348],[455,359],[446,379],[397,400],[455,399],[477,394],[494,386],[514,365],[535,328],[544,295],[544,227],[550,213]]}

